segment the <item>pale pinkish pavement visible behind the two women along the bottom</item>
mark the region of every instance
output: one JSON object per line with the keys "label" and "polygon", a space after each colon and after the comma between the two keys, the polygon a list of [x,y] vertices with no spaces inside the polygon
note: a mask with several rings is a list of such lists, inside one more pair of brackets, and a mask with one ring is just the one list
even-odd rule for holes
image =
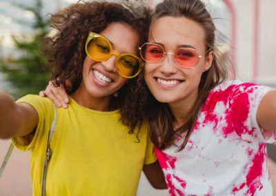
{"label": "pale pinkish pavement visible behind the two women along the bottom", "polygon": [[[10,146],[9,140],[0,140],[0,162],[3,161],[6,155],[6,150]],[[274,146],[273,146],[274,148]],[[270,148],[271,150],[271,148]],[[276,150],[273,151],[274,155]],[[1,196],[31,196],[32,185],[30,182],[30,167],[29,167],[30,153],[21,153],[14,148],[10,160],[0,178],[0,195]],[[270,166],[270,177],[273,179],[273,187],[276,196],[276,163],[271,159],[268,161]],[[144,175],[141,176],[137,196],[168,196],[166,190],[155,190],[152,188]]]}

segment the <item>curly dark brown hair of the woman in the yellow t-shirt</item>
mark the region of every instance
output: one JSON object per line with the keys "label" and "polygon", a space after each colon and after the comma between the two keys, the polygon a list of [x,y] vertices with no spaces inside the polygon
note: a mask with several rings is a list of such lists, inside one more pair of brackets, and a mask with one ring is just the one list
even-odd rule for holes
{"label": "curly dark brown hair of the woman in the yellow t-shirt", "polygon": [[[141,46],[148,36],[150,10],[141,3],[130,1],[79,1],[52,14],[51,19],[51,26],[57,30],[57,34],[46,39],[44,53],[48,56],[55,85],[63,84],[66,92],[71,95],[79,88],[82,80],[83,61],[86,58],[84,47],[88,33],[99,33],[110,23],[124,22],[137,31]],[[66,85],[66,81],[70,81],[71,85]],[[130,133],[134,132],[135,126],[141,125],[141,119],[133,120],[128,117],[133,112],[130,111],[132,103],[128,99],[134,96],[137,85],[137,78],[128,79],[119,90],[118,97],[111,100],[112,106],[121,109],[121,120],[130,127]]]}

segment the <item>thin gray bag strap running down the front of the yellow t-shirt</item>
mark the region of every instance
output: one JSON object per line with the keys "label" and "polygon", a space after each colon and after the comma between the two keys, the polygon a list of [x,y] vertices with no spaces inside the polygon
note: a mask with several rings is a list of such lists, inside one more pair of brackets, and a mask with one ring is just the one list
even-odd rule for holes
{"label": "thin gray bag strap running down the front of the yellow t-shirt", "polygon": [[54,133],[56,124],[57,124],[57,108],[55,107],[55,117],[54,117],[54,120],[52,121],[52,125],[51,125],[50,131],[49,131],[48,141],[47,141],[47,150],[46,150],[46,155],[45,155],[44,165],[43,165],[43,173],[42,173],[42,178],[41,178],[41,196],[45,196],[46,171],[47,171],[48,161],[50,160],[51,155],[52,155],[52,151],[50,149],[50,141],[52,138],[52,133]]}

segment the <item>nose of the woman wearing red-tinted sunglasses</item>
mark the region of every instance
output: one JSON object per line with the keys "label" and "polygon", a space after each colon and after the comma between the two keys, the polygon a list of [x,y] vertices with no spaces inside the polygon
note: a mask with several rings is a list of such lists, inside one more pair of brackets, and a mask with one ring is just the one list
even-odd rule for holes
{"label": "nose of the woman wearing red-tinted sunglasses", "polygon": [[161,72],[163,72],[166,75],[171,75],[175,72],[177,72],[176,68],[176,62],[175,62],[175,56],[172,52],[166,52],[164,55],[164,60],[161,62]]}

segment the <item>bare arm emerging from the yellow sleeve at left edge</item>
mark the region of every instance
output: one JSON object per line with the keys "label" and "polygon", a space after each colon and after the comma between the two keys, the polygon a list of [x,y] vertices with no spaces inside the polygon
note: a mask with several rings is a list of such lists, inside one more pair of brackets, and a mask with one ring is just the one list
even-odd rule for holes
{"label": "bare arm emerging from the yellow sleeve at left edge", "polygon": [[10,95],[0,91],[0,138],[28,135],[38,122],[39,116],[32,106],[16,104]]}

